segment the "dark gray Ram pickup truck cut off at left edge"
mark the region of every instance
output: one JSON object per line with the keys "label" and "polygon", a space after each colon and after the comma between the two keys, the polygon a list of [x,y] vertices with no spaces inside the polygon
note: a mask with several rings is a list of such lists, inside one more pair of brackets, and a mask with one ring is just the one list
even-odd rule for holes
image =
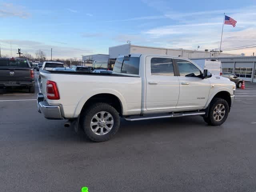
{"label": "dark gray Ram pickup truck cut off at left edge", "polygon": [[0,58],[0,90],[6,88],[28,88],[35,92],[34,70],[24,58]]}

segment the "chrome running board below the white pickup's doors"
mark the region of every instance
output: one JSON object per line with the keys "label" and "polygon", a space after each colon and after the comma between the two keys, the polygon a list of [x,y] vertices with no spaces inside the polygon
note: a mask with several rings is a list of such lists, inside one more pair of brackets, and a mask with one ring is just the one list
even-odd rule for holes
{"label": "chrome running board below the white pickup's doors", "polygon": [[134,116],[124,118],[126,121],[142,121],[150,119],[162,119],[162,118],[174,118],[174,117],[185,117],[185,116],[195,116],[195,115],[204,115],[205,112],[184,112],[178,114],[169,114],[161,116]]}

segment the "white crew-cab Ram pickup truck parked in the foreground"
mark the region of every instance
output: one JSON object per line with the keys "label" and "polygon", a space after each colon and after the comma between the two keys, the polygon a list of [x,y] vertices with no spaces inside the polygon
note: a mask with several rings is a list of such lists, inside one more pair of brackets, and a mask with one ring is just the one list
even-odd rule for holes
{"label": "white crew-cab Ram pickup truck parked in the foreground", "polygon": [[38,110],[48,119],[67,119],[75,130],[101,142],[128,121],[200,115],[212,126],[225,122],[236,85],[186,58],[119,56],[113,74],[40,72]]}

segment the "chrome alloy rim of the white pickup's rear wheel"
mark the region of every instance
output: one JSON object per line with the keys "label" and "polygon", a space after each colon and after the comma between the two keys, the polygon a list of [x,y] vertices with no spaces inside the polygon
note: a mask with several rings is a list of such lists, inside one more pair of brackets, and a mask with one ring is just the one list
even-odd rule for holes
{"label": "chrome alloy rim of the white pickup's rear wheel", "polygon": [[114,119],[113,116],[106,112],[101,111],[96,113],[91,120],[90,127],[92,131],[97,135],[105,135],[114,126]]}

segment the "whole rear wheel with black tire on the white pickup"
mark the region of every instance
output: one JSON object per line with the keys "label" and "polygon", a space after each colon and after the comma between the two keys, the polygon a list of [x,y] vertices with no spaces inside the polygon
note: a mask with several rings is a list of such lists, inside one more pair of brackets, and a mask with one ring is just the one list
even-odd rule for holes
{"label": "whole rear wheel with black tire on the white pickup", "polygon": [[82,114],[82,126],[86,136],[95,142],[109,140],[118,131],[120,117],[114,107],[96,103]]}

